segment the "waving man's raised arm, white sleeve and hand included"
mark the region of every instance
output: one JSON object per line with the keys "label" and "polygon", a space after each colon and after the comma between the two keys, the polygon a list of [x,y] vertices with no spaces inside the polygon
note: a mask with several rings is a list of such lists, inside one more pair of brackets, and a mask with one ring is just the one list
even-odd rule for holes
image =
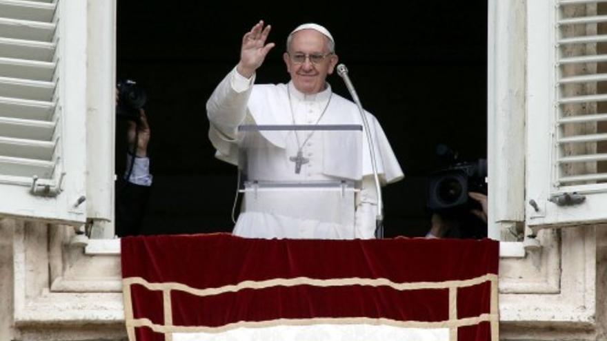
{"label": "waving man's raised arm, white sleeve and hand included", "polygon": [[246,118],[246,103],[255,71],[275,45],[266,44],[269,33],[270,25],[263,28],[263,21],[259,21],[244,34],[238,65],[219,83],[206,103],[211,128],[228,140],[235,138],[236,128]]}

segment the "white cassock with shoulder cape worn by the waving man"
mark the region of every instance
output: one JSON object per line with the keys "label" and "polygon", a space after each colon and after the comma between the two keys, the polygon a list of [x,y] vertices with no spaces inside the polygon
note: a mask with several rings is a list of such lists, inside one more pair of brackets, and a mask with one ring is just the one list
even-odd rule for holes
{"label": "white cassock with shoulder cape worn by the waving man", "polygon": [[[253,85],[255,76],[246,79],[236,69],[219,83],[206,109],[210,121],[209,138],[217,149],[217,158],[238,165],[237,128],[239,125],[361,125],[357,105],[332,93],[330,85],[318,94],[306,95],[299,92],[292,83]],[[323,114],[324,112],[324,114]],[[377,160],[377,172],[382,185],[403,178],[403,172],[392,152],[386,134],[375,116],[366,112]],[[320,119],[320,121],[319,121]],[[263,133],[262,133],[263,134]],[[319,238],[352,239],[373,238],[375,217],[377,216],[377,192],[373,183],[373,171],[366,137],[361,138],[362,169],[357,172],[344,169],[342,165],[350,162],[348,145],[331,145],[323,141],[322,134],[300,132],[299,138],[286,138],[283,133],[266,133],[272,167],[261,169],[261,173],[279,172],[286,180],[335,180],[344,178],[361,183],[352,205],[355,216],[352,219],[335,216],[335,208],[328,207],[319,198],[309,195],[289,196],[288,200],[277,200],[276,207],[288,203],[290,212],[301,214],[280,214],[274,210],[241,211],[234,234],[248,238]],[[308,138],[309,136],[309,138]],[[304,143],[305,141],[305,143]],[[303,145],[302,145],[303,144]],[[308,162],[301,165],[301,172],[295,174],[295,163],[289,160],[301,147]],[[355,150],[355,149],[352,149]],[[269,151],[269,152],[268,152]],[[274,151],[274,152],[272,152]],[[330,152],[327,152],[330,151]],[[330,155],[330,156],[329,156]],[[341,158],[341,159],[340,159]],[[263,165],[263,163],[259,163]],[[266,163],[268,164],[268,163]],[[283,178],[285,180],[285,178]],[[245,200],[247,200],[245,198]],[[293,209],[295,208],[295,209]]]}

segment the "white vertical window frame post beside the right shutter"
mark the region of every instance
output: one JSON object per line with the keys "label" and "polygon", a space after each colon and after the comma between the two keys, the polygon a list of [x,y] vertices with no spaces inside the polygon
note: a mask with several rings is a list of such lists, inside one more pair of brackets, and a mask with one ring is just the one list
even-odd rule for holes
{"label": "white vertical window frame post beside the right shutter", "polygon": [[495,239],[524,220],[524,13],[524,1],[489,1],[488,234]]}

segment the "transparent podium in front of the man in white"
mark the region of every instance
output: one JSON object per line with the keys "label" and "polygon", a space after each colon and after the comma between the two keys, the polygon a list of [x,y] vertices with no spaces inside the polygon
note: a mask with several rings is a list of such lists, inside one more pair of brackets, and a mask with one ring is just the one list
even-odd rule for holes
{"label": "transparent podium in front of the man in white", "polygon": [[239,223],[249,216],[258,224],[285,225],[277,227],[284,232],[279,238],[306,238],[301,234],[308,232],[293,229],[308,227],[320,235],[339,229],[335,238],[355,237],[361,125],[241,125],[238,141],[244,194]]}

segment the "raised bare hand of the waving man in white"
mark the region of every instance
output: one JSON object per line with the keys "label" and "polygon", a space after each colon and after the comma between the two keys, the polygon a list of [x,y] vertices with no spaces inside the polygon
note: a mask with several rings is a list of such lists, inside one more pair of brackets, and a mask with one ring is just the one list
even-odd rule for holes
{"label": "raised bare hand of the waving man in white", "polygon": [[268,52],[275,46],[275,43],[266,44],[270,29],[270,25],[263,28],[263,20],[261,20],[244,34],[240,48],[240,61],[236,67],[239,74],[250,78],[266,59]]}

